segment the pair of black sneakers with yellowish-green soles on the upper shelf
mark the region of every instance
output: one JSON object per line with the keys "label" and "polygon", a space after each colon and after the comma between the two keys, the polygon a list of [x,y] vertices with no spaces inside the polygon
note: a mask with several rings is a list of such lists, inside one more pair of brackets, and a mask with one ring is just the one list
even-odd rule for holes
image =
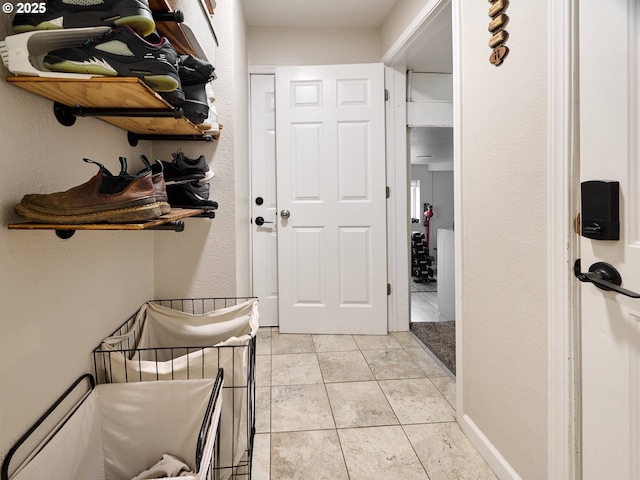
{"label": "pair of black sneakers with yellowish-green soles on the upper shelf", "polygon": [[142,79],[172,105],[185,101],[178,54],[155,33],[147,0],[48,0],[43,13],[16,14],[13,31],[110,26],[81,45],[50,51],[44,66],[55,72]]}

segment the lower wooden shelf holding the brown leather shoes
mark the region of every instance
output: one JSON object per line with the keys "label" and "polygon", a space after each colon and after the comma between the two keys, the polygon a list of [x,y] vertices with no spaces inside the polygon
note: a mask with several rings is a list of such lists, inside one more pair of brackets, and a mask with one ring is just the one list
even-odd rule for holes
{"label": "lower wooden shelf holding the brown leather shoes", "polygon": [[[181,232],[184,225],[181,220],[188,217],[208,216],[215,217],[214,211],[203,210],[200,208],[173,208],[171,213],[162,215],[148,222],[140,223],[83,223],[83,224],[60,224],[60,223],[37,223],[37,222],[20,222],[8,225],[10,230],[55,230],[61,238],[69,238],[76,230],[152,230],[163,229]],[[69,232],[69,234],[61,235],[60,232]]]}

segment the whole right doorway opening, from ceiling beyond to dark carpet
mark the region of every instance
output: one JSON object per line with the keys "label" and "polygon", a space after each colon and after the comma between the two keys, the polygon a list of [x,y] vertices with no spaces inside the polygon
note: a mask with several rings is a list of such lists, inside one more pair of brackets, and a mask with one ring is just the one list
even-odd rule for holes
{"label": "whole right doorway opening, from ceiling beyond to dark carpet", "polygon": [[[431,10],[389,58],[406,71],[410,330],[452,375],[456,365],[453,29]],[[398,141],[401,141],[400,139]],[[419,193],[418,193],[419,191]]]}

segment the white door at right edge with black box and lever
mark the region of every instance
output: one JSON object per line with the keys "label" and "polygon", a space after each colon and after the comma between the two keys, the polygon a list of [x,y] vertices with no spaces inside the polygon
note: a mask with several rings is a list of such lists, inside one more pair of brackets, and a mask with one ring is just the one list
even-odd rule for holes
{"label": "white door at right edge with black box and lever", "polygon": [[[580,2],[579,9],[580,177],[620,182],[620,240],[581,237],[581,267],[584,272],[595,262],[609,263],[620,272],[622,286],[636,292],[639,3]],[[583,478],[639,479],[640,300],[589,283],[582,284],[581,298]]]}

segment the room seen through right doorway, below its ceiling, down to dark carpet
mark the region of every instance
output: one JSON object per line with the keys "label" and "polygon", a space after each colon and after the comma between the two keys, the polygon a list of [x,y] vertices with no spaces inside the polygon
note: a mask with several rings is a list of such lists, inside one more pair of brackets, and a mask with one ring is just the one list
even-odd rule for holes
{"label": "room seen through right doorway, below its ceiling, down to dark carpet", "polygon": [[411,331],[455,375],[453,75],[407,71]]}

